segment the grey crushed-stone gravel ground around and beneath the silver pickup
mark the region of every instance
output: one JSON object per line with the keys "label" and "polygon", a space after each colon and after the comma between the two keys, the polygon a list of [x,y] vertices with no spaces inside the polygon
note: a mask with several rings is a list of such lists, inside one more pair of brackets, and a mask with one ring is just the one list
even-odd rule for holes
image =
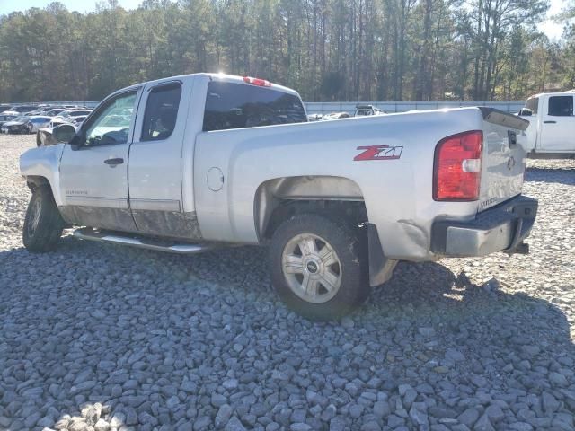
{"label": "grey crushed-stone gravel ground around and beneath the silver pickup", "polygon": [[0,136],[0,429],[574,429],[575,161],[529,163],[531,255],[401,263],[312,323],[257,248],[29,254],[34,145]]}

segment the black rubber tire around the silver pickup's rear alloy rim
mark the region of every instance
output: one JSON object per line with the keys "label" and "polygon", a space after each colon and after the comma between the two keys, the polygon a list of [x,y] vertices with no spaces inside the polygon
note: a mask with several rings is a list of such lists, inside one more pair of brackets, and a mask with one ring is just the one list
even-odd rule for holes
{"label": "black rubber tire around the silver pickup's rear alloy rim", "polygon": [[[302,268],[302,274],[296,274],[292,277],[291,274],[284,273],[284,251],[288,253],[288,249],[299,238],[302,238],[302,235],[304,237],[311,235],[310,237],[315,238],[314,243],[316,245],[320,244],[320,247],[325,247],[321,244],[327,244],[332,251],[335,251],[336,260],[338,260],[335,268],[340,280],[339,287],[329,290],[322,286],[323,281],[320,281],[320,287],[314,289],[316,292],[320,290],[325,292],[320,294],[328,298],[325,302],[307,301],[301,296],[307,294],[300,290],[299,295],[296,295],[296,289],[292,287],[294,286],[293,277],[299,277],[298,280],[305,279],[303,274],[307,274],[306,277],[312,277],[312,275],[317,277],[321,272],[317,265],[312,263],[310,269],[308,264],[298,263],[297,267]],[[288,305],[288,308],[310,320],[330,321],[352,312],[358,305],[365,302],[371,289],[368,283],[367,243],[362,236],[363,234],[359,229],[354,229],[343,221],[332,220],[316,214],[292,216],[280,224],[270,242],[271,281],[279,297]],[[320,255],[323,248],[318,250],[317,255]],[[314,256],[314,254],[306,254],[305,256]],[[319,265],[322,268],[328,268],[323,266],[322,261],[319,259]],[[303,251],[302,262],[305,262]],[[310,272],[312,270],[314,272]],[[333,291],[336,292],[335,295],[331,293]]]}

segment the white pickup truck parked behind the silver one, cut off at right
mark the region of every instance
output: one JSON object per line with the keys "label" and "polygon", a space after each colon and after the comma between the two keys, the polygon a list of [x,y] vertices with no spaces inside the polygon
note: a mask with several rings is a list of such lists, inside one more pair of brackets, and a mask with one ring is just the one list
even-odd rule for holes
{"label": "white pickup truck parked behind the silver one, cut off at right", "polygon": [[526,149],[533,158],[575,156],[575,116],[571,92],[544,92],[527,99],[519,116],[526,129]]}

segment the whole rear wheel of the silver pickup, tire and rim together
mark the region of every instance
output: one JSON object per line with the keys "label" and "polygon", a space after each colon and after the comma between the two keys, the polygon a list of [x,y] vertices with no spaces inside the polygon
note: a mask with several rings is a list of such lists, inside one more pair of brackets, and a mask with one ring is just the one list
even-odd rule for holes
{"label": "whole rear wheel of the silver pickup, tire and rim together", "polygon": [[337,319],[369,295],[366,254],[359,233],[347,224],[315,214],[293,216],[271,239],[272,283],[305,318]]}

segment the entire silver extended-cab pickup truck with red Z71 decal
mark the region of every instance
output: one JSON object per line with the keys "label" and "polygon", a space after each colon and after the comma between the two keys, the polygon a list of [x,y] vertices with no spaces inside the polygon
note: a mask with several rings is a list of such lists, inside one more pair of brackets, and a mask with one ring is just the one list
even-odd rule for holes
{"label": "entire silver extended-cab pickup truck with red Z71 decal", "polygon": [[268,244],[279,296],[332,319],[398,260],[526,253],[527,126],[487,108],[308,123],[295,91],[261,79],[137,84],[22,154],[23,242],[49,251],[75,225],[83,240],[175,253]]}

